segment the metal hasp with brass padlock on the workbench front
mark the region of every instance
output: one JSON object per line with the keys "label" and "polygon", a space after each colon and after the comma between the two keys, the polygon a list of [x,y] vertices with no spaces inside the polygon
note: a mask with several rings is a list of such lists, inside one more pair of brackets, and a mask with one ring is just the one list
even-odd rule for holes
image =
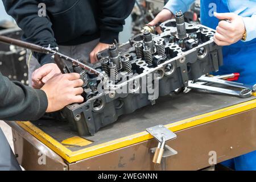
{"label": "metal hasp with brass padlock on the workbench front", "polygon": [[177,154],[173,148],[168,146],[166,142],[171,139],[175,139],[177,135],[171,130],[168,130],[163,125],[157,125],[146,129],[156,140],[158,140],[158,147],[150,148],[150,153],[154,154],[153,163],[160,164],[162,159],[166,159],[169,156]]}

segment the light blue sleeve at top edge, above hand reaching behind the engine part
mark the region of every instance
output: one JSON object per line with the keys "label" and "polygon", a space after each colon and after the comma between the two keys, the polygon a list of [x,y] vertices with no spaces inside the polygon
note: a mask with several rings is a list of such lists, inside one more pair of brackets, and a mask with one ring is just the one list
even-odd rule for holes
{"label": "light blue sleeve at top edge, above hand reaching behind the engine part", "polygon": [[173,14],[180,10],[184,13],[188,11],[193,2],[195,2],[195,0],[170,0],[167,2],[166,6],[164,6],[164,9],[170,10]]}

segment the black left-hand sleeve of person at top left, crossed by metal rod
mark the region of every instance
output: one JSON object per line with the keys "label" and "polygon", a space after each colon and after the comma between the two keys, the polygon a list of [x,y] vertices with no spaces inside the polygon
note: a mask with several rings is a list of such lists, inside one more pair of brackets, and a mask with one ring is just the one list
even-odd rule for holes
{"label": "black left-hand sleeve of person at top left, crossed by metal rod", "polygon": [[[52,23],[46,16],[38,15],[39,7],[36,0],[2,0],[6,12],[13,16],[18,26],[23,30],[23,40],[39,46],[57,47],[54,38]],[[42,39],[43,38],[43,39]],[[51,55],[34,53],[41,65],[54,63]]]}

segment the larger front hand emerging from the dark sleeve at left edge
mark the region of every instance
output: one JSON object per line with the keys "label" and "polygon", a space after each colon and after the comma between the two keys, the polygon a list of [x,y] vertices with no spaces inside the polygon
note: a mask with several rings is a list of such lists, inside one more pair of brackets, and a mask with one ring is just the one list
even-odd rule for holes
{"label": "larger front hand emerging from the dark sleeve at left edge", "polygon": [[83,84],[78,73],[59,74],[48,80],[41,89],[48,99],[46,113],[61,110],[69,104],[83,102]]}

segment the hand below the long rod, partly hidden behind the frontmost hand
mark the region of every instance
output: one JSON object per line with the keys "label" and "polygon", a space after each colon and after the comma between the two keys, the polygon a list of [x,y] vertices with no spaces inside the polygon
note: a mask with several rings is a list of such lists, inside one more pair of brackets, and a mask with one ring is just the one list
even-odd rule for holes
{"label": "hand below the long rod, partly hidden behind the frontmost hand", "polygon": [[49,63],[43,65],[32,73],[32,87],[34,89],[42,88],[49,79],[59,73],[61,72],[57,64]]}

